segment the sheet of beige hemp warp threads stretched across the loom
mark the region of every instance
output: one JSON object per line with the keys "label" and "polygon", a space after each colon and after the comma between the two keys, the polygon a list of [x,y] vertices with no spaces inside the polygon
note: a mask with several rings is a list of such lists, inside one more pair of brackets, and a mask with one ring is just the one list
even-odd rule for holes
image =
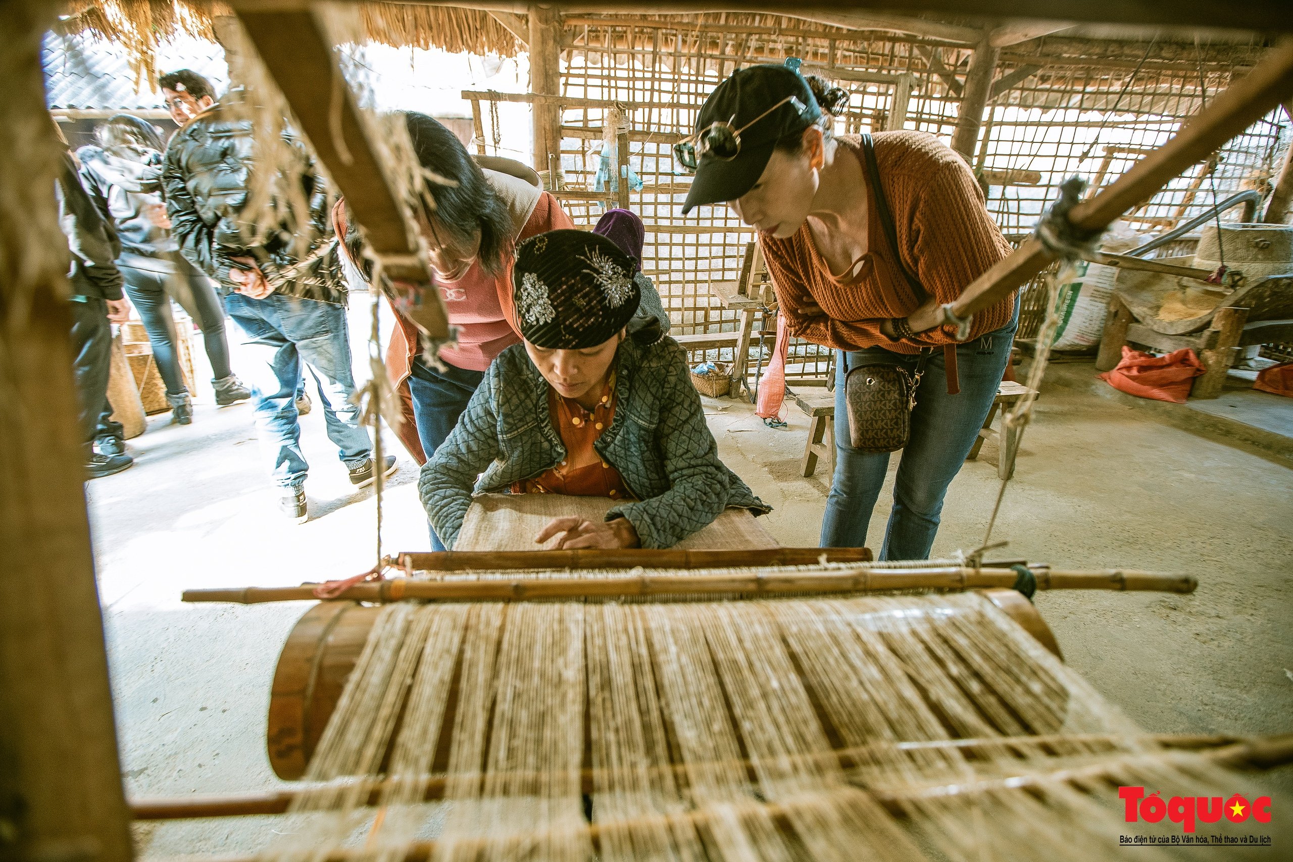
{"label": "sheet of beige hemp warp threads stretched across the loom", "polygon": [[265,858],[1103,859],[1118,784],[1243,790],[976,593],[385,605],[305,778]]}

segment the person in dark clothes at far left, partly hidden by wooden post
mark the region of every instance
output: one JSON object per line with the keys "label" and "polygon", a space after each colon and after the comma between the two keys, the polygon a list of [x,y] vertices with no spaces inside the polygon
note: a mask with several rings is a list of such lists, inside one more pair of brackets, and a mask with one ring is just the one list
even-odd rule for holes
{"label": "person in dark clothes at far left, partly hidden by wooden post", "polygon": [[134,459],[124,452],[96,452],[100,434],[122,437],[122,425],[110,416],[107,375],[112,363],[112,330],[109,319],[124,321],[129,306],[122,296],[122,273],[116,269],[122,249],[112,225],[103,220],[81,187],[71,152],[63,154],[63,169],[54,184],[58,222],[71,251],[72,372],[80,397],[80,424],[85,439],[85,473],[100,478],[120,473]]}

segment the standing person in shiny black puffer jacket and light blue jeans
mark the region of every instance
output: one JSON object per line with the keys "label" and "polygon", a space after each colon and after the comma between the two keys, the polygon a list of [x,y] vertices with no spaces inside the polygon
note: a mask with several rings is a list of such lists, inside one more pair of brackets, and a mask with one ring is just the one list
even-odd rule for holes
{"label": "standing person in shiny black puffer jacket and light blue jeans", "polygon": [[[294,399],[301,362],[319,380],[327,433],[350,482],[371,483],[376,465],[372,441],[359,423],[327,186],[300,142],[284,138],[295,164],[275,165],[278,173],[268,181],[277,200],[299,191],[309,212],[296,220],[284,215],[277,230],[256,237],[259,213],[248,211],[248,199],[261,177],[252,173],[257,152],[248,109],[244,92],[235,89],[189,120],[167,146],[162,182],[181,253],[219,282],[225,310],[262,359],[247,381],[256,428],[282,492],[279,508],[300,523],[308,517],[309,472]],[[388,456],[381,469],[392,473],[394,465]]]}

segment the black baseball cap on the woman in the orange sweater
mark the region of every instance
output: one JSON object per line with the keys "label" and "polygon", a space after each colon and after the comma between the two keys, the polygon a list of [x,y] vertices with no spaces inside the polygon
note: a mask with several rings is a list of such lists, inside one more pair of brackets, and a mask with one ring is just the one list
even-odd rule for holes
{"label": "black baseball cap on the woman in the orange sweater", "polygon": [[[793,101],[759,118],[790,96]],[[759,119],[755,121],[755,118]],[[728,78],[705,100],[694,132],[714,123],[731,123],[734,129],[749,128],[741,132],[741,151],[736,158],[719,159],[709,152],[701,156],[683,215],[693,207],[736,200],[743,195],[759,181],[777,141],[803,132],[820,118],[821,109],[808,81],[789,66],[749,66]]]}

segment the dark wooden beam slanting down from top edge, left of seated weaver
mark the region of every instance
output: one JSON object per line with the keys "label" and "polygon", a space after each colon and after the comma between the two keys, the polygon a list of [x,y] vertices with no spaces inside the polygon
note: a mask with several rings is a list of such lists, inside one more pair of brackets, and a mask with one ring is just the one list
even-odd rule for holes
{"label": "dark wooden beam slanting down from top edge, left of seated weaver", "polygon": [[449,337],[449,317],[432,286],[412,213],[381,164],[375,131],[356,106],[310,4],[243,0],[233,6],[381,261],[393,284],[392,300],[429,339]]}

